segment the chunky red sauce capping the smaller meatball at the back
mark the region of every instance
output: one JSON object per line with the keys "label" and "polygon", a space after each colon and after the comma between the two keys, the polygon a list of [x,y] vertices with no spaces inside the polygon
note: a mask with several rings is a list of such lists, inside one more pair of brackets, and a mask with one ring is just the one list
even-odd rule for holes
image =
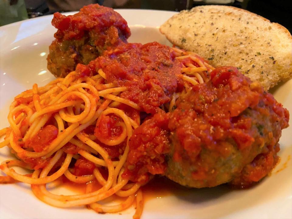
{"label": "chunky red sauce capping the smaller meatball at the back", "polygon": [[[75,15],[65,16],[56,12],[54,13],[52,25],[58,29],[54,35],[56,39],[80,39],[85,31],[95,29],[96,32],[101,32],[104,29],[107,30],[110,26],[115,26],[125,40],[130,36],[130,28],[127,26],[126,20],[113,9],[98,4],[87,5]],[[111,30],[108,31],[110,32]],[[99,37],[103,37],[102,33],[100,33]],[[113,39],[116,38],[114,37]]]}

